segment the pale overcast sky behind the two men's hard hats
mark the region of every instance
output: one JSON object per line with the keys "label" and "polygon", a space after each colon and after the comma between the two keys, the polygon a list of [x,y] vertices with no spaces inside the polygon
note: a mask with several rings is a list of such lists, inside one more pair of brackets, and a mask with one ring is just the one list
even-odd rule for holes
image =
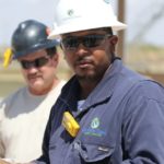
{"label": "pale overcast sky behind the two men's hard hats", "polygon": [[[116,1],[112,0],[115,5]],[[10,45],[10,38],[17,24],[27,19],[35,19],[50,27],[54,21],[55,0],[0,0],[0,44]],[[152,13],[164,8],[163,0],[127,0],[126,23],[128,24],[127,39],[131,40]],[[161,19],[150,24],[143,40],[164,46],[164,13]]]}

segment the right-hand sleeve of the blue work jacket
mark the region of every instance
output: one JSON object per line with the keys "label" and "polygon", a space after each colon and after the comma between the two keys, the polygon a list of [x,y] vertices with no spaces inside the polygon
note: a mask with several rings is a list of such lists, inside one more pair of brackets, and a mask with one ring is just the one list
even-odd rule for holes
{"label": "right-hand sleeve of the blue work jacket", "polygon": [[124,145],[128,154],[121,164],[164,163],[164,91],[143,84],[130,97],[124,119]]}

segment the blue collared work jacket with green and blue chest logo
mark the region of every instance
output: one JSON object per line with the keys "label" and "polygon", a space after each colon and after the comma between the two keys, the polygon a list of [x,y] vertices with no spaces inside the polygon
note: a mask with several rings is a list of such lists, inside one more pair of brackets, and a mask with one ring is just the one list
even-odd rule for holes
{"label": "blue collared work jacket with green and blue chest logo", "polygon": [[[164,164],[164,89],[116,59],[77,109],[80,85],[73,77],[54,105],[38,164]],[[80,131],[61,125],[65,112]]]}

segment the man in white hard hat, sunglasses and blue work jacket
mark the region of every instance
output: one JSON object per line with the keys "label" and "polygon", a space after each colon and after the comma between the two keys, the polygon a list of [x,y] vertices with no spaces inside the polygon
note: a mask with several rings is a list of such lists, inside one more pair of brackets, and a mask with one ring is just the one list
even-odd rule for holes
{"label": "man in white hard hat, sunglasses and blue work jacket", "polygon": [[[36,164],[163,164],[164,89],[115,55],[124,30],[106,0],[58,0],[50,38],[61,36],[74,75],[63,86]],[[62,120],[62,121],[61,121]]]}

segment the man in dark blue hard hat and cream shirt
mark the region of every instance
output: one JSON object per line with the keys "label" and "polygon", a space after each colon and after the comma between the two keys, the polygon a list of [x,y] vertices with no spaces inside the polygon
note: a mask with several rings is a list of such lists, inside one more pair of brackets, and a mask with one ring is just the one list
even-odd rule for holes
{"label": "man in dark blue hard hat and cream shirt", "polygon": [[0,104],[0,157],[28,162],[42,154],[43,136],[52,104],[66,83],[56,75],[57,40],[35,20],[21,22],[12,35],[12,58],[22,67],[26,86]]}

